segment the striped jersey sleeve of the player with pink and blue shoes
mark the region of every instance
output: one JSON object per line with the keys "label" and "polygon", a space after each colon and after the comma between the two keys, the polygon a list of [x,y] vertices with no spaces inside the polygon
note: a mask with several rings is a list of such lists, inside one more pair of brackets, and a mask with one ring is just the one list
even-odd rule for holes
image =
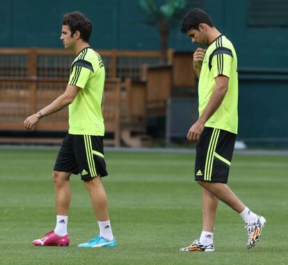
{"label": "striped jersey sleeve of the player with pink and blue shoes", "polygon": [[85,60],[78,60],[72,64],[69,84],[85,88],[90,75],[94,72],[93,65]]}

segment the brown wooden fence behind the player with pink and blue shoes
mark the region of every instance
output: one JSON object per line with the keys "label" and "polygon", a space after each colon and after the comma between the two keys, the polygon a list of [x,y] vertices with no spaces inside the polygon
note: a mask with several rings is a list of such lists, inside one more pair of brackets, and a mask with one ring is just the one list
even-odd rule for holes
{"label": "brown wooden fence behind the player with pink and blue shoes", "polygon": [[[145,126],[143,65],[157,65],[157,51],[97,51],[106,68],[104,119],[113,145],[123,127]],[[64,49],[0,49],[0,131],[22,131],[24,118],[51,103],[66,88],[75,55]],[[129,77],[129,78],[127,78]],[[117,79],[116,79],[117,78]],[[38,131],[66,131],[67,109],[45,117]]]}

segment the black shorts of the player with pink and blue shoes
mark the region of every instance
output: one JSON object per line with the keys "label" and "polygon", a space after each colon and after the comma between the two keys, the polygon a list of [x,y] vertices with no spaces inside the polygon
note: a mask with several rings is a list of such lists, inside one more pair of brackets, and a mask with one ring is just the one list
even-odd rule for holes
{"label": "black shorts of the player with pink and blue shoes", "polygon": [[67,134],[58,152],[55,171],[81,174],[83,181],[100,175],[105,177],[103,137]]}

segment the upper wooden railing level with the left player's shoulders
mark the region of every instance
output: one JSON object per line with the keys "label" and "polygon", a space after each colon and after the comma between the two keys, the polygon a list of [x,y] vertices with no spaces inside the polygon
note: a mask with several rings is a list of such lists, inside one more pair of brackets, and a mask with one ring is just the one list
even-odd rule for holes
{"label": "upper wooden railing level with the left player's shoulders", "polygon": [[[158,65],[158,51],[97,51],[107,78],[141,79],[141,67]],[[0,49],[0,77],[67,78],[75,55],[65,49]]]}

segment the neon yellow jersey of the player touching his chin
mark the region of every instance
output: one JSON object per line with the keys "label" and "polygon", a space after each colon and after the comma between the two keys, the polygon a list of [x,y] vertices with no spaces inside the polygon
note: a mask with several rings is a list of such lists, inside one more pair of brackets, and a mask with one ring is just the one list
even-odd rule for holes
{"label": "neon yellow jersey of the player touching his chin", "polygon": [[237,134],[237,54],[230,40],[224,35],[219,36],[209,45],[202,62],[198,84],[199,115],[203,113],[216,87],[215,78],[222,74],[229,77],[228,90],[219,108],[205,123],[205,127],[223,129]]}

